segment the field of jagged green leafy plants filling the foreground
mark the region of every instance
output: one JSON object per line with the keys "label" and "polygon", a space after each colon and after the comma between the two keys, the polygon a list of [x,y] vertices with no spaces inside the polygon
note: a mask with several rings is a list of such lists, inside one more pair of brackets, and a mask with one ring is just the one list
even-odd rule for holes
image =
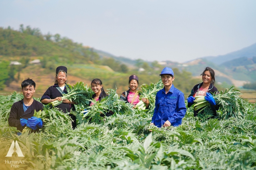
{"label": "field of jagged green leafy plants filling the foreground", "polygon": [[[50,117],[39,133],[18,136],[8,126],[8,116],[22,98],[0,96],[1,169],[14,169],[6,160],[24,160],[19,170],[256,169],[255,104],[246,103],[243,118],[225,120],[200,120],[190,107],[182,125],[169,129],[149,126],[152,111],[115,113],[90,123],[78,106],[74,114],[79,123],[73,130],[64,113],[47,109]],[[13,140],[24,157],[5,157]]]}

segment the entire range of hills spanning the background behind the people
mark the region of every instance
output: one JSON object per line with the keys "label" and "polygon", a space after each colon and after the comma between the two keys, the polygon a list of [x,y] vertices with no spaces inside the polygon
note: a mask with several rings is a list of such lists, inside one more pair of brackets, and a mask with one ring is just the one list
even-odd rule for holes
{"label": "entire range of hills spanning the background behind the people", "polygon": [[[250,57],[254,55],[253,51],[255,45],[256,44],[251,45],[248,48],[244,48],[234,53],[246,54],[247,49],[249,50],[247,54],[250,54]],[[243,53],[241,51],[243,51]],[[234,53],[228,53],[228,55],[230,56],[230,54]],[[75,73],[77,75],[81,74],[82,69],[87,69],[86,71],[95,72],[95,74],[84,74],[88,76],[87,78],[86,76],[80,75],[80,78],[83,78],[85,81],[90,81],[93,78],[104,77],[103,80],[106,82],[108,88],[115,88],[116,85],[123,87],[127,86],[128,83],[125,79],[125,83],[116,83],[118,82],[118,78],[123,80],[123,78],[120,78],[120,75],[128,77],[129,74],[138,74],[144,77],[142,78],[143,83],[150,83],[150,80],[151,82],[156,82],[159,79],[159,70],[165,66],[178,68],[180,73],[185,72],[188,75],[190,75],[189,72],[191,72],[194,78],[198,78],[202,73],[202,70],[204,70],[206,66],[210,66],[216,70],[216,82],[227,86],[233,84],[241,87],[245,83],[256,80],[256,57],[249,58],[246,56],[246,59],[245,57],[241,59],[238,57],[239,56],[236,56],[235,59],[226,61],[220,65],[209,61],[207,57],[195,59],[187,63],[164,61],[159,64],[157,62],[148,62],[141,59],[132,60],[126,57],[116,57],[105,51],[84,47],[82,44],[75,43],[67,37],[61,37],[59,34],[50,35],[48,33],[47,35],[42,35],[39,29],[32,29],[29,26],[24,28],[23,25],[21,25],[19,31],[13,30],[10,27],[7,29],[0,27],[0,62],[3,65],[5,64],[5,67],[0,70],[0,72],[2,71],[1,75],[3,75],[0,78],[0,86],[3,85],[4,81],[7,82],[7,84],[10,84],[10,80],[15,80],[15,76],[16,79],[18,79],[21,70],[29,66],[31,60],[40,59],[42,68],[45,68],[44,72],[54,72],[56,65],[60,64],[68,65],[75,70],[76,68],[79,68],[80,71]],[[8,62],[15,60],[21,62],[22,65],[8,66]],[[241,60],[244,62],[242,63]],[[107,66],[104,68],[105,70],[108,70],[107,74],[118,76],[113,78],[105,75],[106,71],[99,74],[95,71],[95,68],[102,69],[102,66],[100,65]],[[8,68],[8,75],[4,73],[6,72],[7,67],[10,67]],[[138,68],[144,68],[144,71],[138,71]],[[72,76],[76,76],[75,74]],[[113,80],[111,81],[108,79]],[[175,79],[177,80],[177,78]],[[196,81],[200,82],[198,79]],[[191,82],[193,81],[191,80]],[[181,86],[181,83],[178,84]],[[125,90],[126,88],[122,89]],[[184,92],[185,91],[188,92],[189,90],[186,89]]]}

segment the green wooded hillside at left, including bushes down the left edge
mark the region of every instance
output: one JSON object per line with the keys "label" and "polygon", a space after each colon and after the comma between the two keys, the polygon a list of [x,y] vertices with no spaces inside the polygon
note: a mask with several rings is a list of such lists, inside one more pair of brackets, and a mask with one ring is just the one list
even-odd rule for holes
{"label": "green wooded hillside at left, including bushes down the left edge", "polygon": [[[43,35],[39,28],[20,25],[18,31],[0,27],[0,89],[14,80],[14,75],[29,65],[31,57],[40,57],[42,68],[54,70],[59,64],[102,64],[114,71],[127,72],[128,67],[112,58],[101,59],[93,48],[73,42],[60,34]],[[21,65],[10,65],[17,61]]]}

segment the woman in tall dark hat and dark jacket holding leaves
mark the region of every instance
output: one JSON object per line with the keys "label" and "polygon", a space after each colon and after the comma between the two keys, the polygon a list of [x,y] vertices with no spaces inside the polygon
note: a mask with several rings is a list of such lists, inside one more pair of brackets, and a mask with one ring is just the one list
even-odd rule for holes
{"label": "woman in tall dark hat and dark jacket holding leaves", "polygon": [[[53,102],[55,100],[62,101],[62,104],[59,104],[58,107],[61,109],[64,113],[69,113],[71,110],[75,111],[74,102],[70,102],[68,99],[62,100],[62,94],[67,94],[67,73],[68,68],[65,66],[58,66],[56,68],[56,77],[54,80],[54,85],[50,86],[44,95],[41,98],[42,104],[49,104],[50,102]],[[69,116],[72,118],[72,127],[73,129],[76,127],[76,116],[69,114]]]}

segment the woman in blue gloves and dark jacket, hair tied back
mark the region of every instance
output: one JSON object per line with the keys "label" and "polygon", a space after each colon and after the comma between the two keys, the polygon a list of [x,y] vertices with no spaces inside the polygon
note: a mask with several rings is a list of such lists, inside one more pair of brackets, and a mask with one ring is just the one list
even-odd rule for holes
{"label": "woman in blue gloves and dark jacket, hair tied back", "polygon": [[[214,86],[215,84],[215,72],[212,68],[206,67],[201,74],[202,83],[196,84],[191,90],[191,94],[188,96],[188,107],[194,104],[195,96],[205,96],[205,100],[211,104],[211,108],[214,111],[214,116],[216,116],[216,110],[219,109],[218,105],[212,94],[218,92],[218,89]],[[194,116],[198,115],[199,110],[194,110]]]}

